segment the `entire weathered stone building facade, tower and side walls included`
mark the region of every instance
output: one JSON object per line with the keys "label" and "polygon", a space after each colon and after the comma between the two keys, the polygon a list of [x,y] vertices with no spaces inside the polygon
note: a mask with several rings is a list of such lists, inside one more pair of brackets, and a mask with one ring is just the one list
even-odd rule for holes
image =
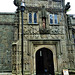
{"label": "entire weathered stone building facade, tower and side walls included", "polygon": [[[24,75],[75,74],[75,18],[64,0],[25,0],[23,16]],[[0,13],[0,75],[22,75],[21,11]],[[69,20],[69,21],[68,21]]]}

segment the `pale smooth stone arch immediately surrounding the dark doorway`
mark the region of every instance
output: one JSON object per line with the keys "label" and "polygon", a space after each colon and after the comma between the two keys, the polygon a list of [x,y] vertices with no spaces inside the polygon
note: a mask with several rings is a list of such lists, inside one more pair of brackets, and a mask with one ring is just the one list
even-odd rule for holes
{"label": "pale smooth stone arch immediately surrounding the dark doorway", "polygon": [[53,53],[53,63],[54,63],[54,71],[57,71],[57,59],[56,59],[56,50],[54,48],[54,46],[50,46],[50,45],[40,45],[37,46],[34,50],[34,73],[36,74],[36,52],[41,49],[41,48],[46,48],[48,50],[50,50]]}

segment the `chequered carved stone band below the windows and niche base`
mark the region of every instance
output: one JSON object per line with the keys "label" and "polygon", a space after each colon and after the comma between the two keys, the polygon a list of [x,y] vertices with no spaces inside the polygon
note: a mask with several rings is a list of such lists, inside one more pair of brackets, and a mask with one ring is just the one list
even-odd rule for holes
{"label": "chequered carved stone band below the windows and niche base", "polygon": [[[64,27],[62,26],[50,26],[50,29],[40,29],[40,33],[50,33],[50,34],[64,34]],[[39,34],[39,27],[38,26],[24,26],[24,34],[26,35],[35,35]]]}

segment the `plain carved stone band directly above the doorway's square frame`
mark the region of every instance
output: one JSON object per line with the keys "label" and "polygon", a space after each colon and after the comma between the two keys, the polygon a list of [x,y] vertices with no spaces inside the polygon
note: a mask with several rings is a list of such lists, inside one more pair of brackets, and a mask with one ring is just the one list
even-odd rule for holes
{"label": "plain carved stone band directly above the doorway's square frame", "polygon": [[42,39],[64,39],[64,36],[62,35],[25,35],[24,39],[27,40],[42,40]]}

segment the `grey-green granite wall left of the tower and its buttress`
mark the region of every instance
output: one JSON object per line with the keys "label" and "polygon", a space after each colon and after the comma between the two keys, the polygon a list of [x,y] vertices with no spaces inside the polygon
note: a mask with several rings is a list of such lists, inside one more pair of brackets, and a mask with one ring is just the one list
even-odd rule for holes
{"label": "grey-green granite wall left of the tower and its buttress", "polygon": [[0,72],[12,71],[14,13],[0,13]]}

